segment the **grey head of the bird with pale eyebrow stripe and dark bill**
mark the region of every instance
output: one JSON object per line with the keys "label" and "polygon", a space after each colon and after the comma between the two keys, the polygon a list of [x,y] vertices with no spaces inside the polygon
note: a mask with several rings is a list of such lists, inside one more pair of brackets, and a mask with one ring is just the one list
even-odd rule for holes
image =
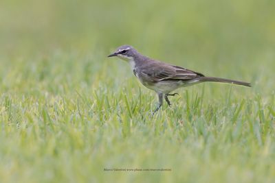
{"label": "grey head of the bird with pale eyebrow stripe and dark bill", "polygon": [[129,45],[122,45],[118,47],[118,49],[116,49],[114,53],[111,53],[111,55],[109,55],[108,57],[117,56],[122,60],[129,61],[133,60],[136,54],[137,51],[133,47]]}

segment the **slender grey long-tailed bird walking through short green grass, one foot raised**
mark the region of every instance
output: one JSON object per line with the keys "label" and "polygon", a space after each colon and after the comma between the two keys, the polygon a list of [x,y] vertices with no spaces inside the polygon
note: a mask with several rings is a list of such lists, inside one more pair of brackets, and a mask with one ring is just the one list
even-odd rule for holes
{"label": "slender grey long-tailed bird walking through short green grass, one foot raised", "polygon": [[201,73],[184,69],[181,66],[175,66],[153,60],[138,53],[133,47],[123,45],[118,47],[114,53],[108,57],[117,56],[118,58],[129,62],[133,70],[133,74],[147,88],[157,93],[159,103],[155,112],[162,106],[163,99],[170,106],[168,96],[175,96],[177,93],[171,93],[177,88],[199,84],[201,82],[221,82],[229,84],[239,84],[243,86],[251,86],[248,82],[239,82],[236,80],[228,80],[219,77],[206,77]]}

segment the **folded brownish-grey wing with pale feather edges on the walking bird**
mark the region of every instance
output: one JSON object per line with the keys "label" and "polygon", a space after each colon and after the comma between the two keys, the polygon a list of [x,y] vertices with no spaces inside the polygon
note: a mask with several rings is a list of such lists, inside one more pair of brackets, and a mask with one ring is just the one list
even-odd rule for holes
{"label": "folded brownish-grey wing with pale feather edges on the walking bird", "polygon": [[188,69],[179,66],[173,66],[164,62],[151,64],[140,71],[142,77],[146,77],[151,82],[160,82],[164,80],[192,80],[195,77],[201,76],[200,73],[195,73]]}

